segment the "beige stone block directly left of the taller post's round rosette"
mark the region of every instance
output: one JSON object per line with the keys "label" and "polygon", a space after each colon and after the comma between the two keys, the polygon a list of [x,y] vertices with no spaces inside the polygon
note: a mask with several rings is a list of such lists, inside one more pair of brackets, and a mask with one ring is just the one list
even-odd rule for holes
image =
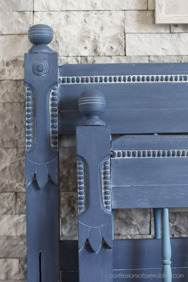
{"label": "beige stone block directly left of the taller post's round rosette", "polygon": [[24,57],[0,58],[0,80],[24,79]]}

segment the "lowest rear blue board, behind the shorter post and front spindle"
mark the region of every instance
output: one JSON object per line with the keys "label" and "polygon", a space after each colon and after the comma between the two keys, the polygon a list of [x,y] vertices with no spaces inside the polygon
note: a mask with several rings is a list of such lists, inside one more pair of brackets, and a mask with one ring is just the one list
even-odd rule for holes
{"label": "lowest rear blue board, behind the shorter post and front spindle", "polygon": [[[188,238],[170,239],[172,274],[184,277],[173,278],[173,282],[187,281]],[[78,281],[78,241],[60,241],[60,270],[64,282]],[[113,240],[113,274],[161,274],[161,239]],[[71,280],[72,279],[72,280]],[[139,281],[151,281],[140,278]],[[97,280],[96,280],[97,281]],[[111,281],[120,282],[122,278]],[[161,281],[153,278],[152,281]]]}

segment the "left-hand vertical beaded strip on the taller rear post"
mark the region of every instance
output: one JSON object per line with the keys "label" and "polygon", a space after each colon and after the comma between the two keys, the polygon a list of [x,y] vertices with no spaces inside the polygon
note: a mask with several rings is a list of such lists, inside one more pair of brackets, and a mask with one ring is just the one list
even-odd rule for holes
{"label": "left-hand vertical beaded strip on the taller rear post", "polygon": [[25,150],[28,151],[33,142],[33,93],[29,86],[25,86],[26,132]]}

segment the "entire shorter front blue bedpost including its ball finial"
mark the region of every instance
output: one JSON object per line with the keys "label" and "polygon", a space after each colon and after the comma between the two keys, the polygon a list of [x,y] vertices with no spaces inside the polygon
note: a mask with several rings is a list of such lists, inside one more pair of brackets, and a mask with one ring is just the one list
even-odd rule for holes
{"label": "entire shorter front blue bedpost including its ball finial", "polygon": [[79,281],[112,280],[110,127],[99,119],[105,97],[87,90],[79,98],[86,117],[76,128]]}

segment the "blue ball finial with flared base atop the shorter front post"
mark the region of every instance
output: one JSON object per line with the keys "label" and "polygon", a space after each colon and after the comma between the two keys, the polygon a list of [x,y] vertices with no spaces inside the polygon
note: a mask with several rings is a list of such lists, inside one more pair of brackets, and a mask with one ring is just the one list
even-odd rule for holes
{"label": "blue ball finial with flared base atop the shorter front post", "polygon": [[99,116],[105,111],[106,101],[102,92],[86,90],[81,93],[78,100],[79,111],[86,119],[81,125],[105,125]]}

